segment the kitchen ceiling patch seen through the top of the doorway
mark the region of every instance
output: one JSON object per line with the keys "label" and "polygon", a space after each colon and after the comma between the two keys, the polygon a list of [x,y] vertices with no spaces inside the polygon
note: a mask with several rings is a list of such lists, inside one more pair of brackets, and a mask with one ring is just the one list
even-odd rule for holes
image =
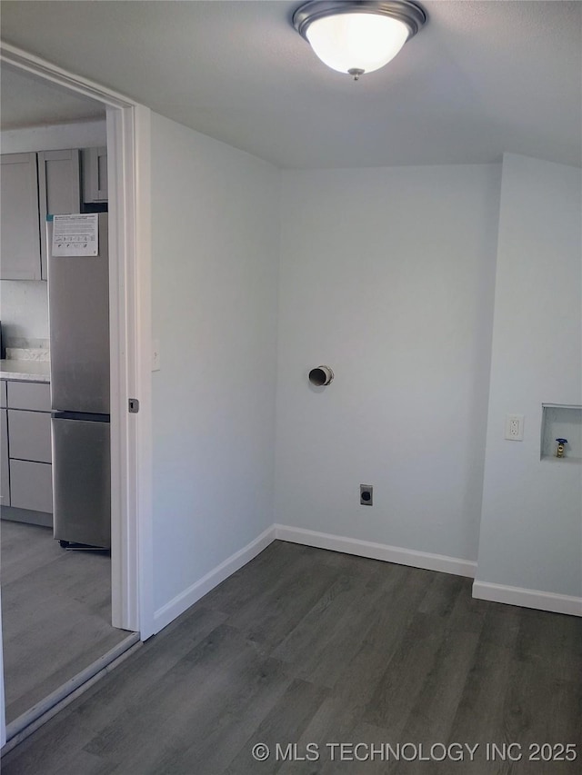
{"label": "kitchen ceiling patch seen through the top of the doorway", "polygon": [[0,71],[0,95],[2,129],[105,118],[104,106],[95,100],[5,65]]}

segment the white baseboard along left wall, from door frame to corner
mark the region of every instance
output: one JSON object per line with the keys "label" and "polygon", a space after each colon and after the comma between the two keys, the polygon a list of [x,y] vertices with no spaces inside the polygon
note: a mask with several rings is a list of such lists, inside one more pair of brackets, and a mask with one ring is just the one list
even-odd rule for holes
{"label": "white baseboard along left wall, from door frame to corner", "polygon": [[275,528],[271,526],[265,532],[262,532],[255,541],[246,544],[243,549],[236,551],[212,571],[206,573],[202,579],[196,581],[192,586],[167,602],[166,605],[158,609],[154,614],[155,632],[159,632],[170,621],[174,621],[176,616],[184,613],[191,605],[206,595],[206,592],[213,590],[221,581],[225,581],[228,576],[238,571],[243,565],[251,561],[257,554],[266,549],[269,543],[275,541]]}

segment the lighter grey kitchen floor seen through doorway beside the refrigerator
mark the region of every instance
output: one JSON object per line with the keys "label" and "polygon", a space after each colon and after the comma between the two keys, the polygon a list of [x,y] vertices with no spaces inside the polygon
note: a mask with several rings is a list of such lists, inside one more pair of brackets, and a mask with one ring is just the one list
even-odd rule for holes
{"label": "lighter grey kitchen floor seen through doorway beside the refrigerator", "polygon": [[111,626],[111,559],[65,551],[51,528],[0,523],[6,720],[127,637]]}

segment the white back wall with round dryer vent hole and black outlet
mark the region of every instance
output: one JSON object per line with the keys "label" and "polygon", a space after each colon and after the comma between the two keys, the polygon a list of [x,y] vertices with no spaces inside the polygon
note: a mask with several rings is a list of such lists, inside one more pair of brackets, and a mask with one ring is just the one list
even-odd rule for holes
{"label": "white back wall with round dryer vent hole and black outlet", "polygon": [[284,173],[276,522],[477,559],[499,174]]}

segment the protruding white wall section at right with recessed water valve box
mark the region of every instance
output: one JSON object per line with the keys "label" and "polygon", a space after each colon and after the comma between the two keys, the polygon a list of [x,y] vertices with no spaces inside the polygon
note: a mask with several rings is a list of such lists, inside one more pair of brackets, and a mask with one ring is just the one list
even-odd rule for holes
{"label": "protruding white wall section at right with recessed water valve box", "polygon": [[[582,469],[540,461],[543,402],[582,403],[580,170],[503,162],[477,581],[582,597]],[[525,415],[524,441],[504,440]]]}

